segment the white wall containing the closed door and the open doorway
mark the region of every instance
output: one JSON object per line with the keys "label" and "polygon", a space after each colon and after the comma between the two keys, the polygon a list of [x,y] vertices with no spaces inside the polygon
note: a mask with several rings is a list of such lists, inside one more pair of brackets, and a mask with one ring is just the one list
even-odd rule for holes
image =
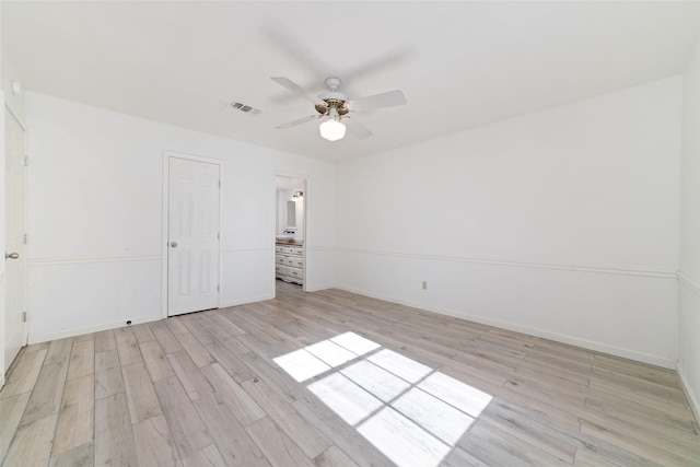
{"label": "white wall containing the closed door and the open doorway", "polygon": [[27,93],[30,341],[161,317],[164,151],[222,161],[222,306],[275,294],[275,174],[303,174],[308,289],[334,283],[330,164]]}

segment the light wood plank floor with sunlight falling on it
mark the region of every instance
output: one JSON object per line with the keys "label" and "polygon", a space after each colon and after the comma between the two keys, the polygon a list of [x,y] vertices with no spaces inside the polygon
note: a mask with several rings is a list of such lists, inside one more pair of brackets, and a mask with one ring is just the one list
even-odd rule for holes
{"label": "light wood plank floor with sunlight falling on it", "polygon": [[0,418],[12,467],[700,465],[673,371],[282,282],[30,346]]}

